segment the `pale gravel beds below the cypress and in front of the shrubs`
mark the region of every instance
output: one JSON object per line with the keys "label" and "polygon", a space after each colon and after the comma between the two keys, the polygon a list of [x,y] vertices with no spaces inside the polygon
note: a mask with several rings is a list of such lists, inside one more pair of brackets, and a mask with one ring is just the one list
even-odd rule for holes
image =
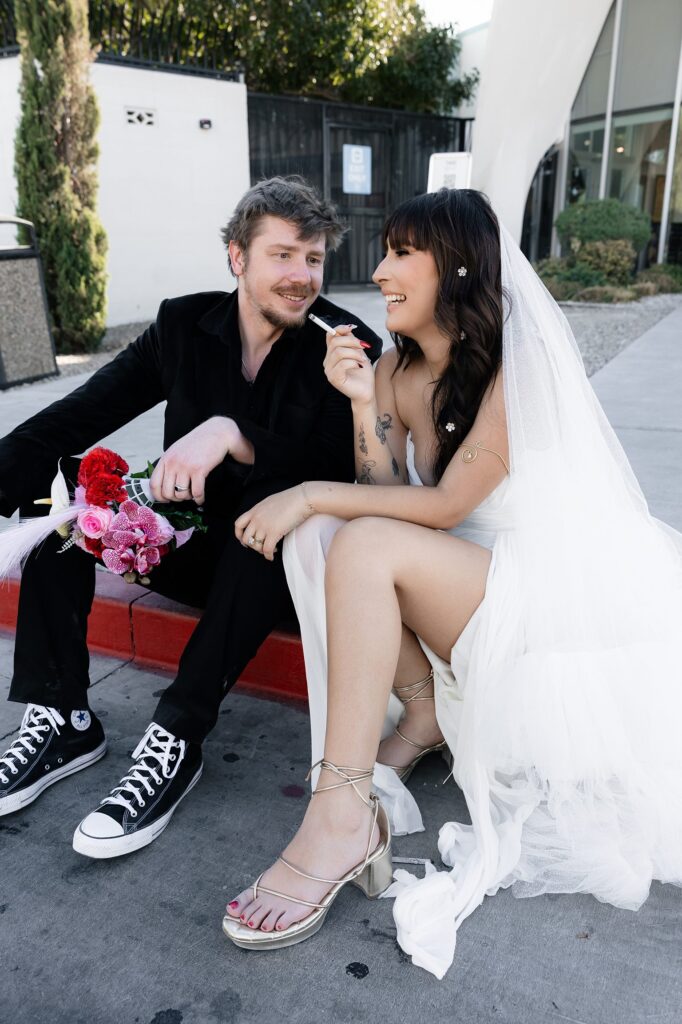
{"label": "pale gravel beds below the cypress and in front of the shrubs", "polygon": [[[562,302],[561,308],[573,329],[588,376],[592,376],[631,341],[635,341],[680,304],[682,295],[652,295],[638,302],[612,305]],[[146,323],[124,324],[110,328],[101,348],[92,355],[58,355],[60,374],[72,377],[98,370],[136,338],[146,326]]]}

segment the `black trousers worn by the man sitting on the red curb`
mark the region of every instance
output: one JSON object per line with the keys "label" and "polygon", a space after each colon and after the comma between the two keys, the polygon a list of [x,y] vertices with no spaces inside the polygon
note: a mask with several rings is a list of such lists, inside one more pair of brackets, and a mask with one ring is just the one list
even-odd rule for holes
{"label": "black trousers worn by the man sitting on the red curb", "polygon": [[[67,476],[75,476],[70,468],[62,462]],[[181,739],[203,741],[223,696],[263,640],[294,617],[282,556],[268,562],[235,538],[233,519],[270,489],[262,481],[245,487],[233,515],[210,520],[206,534],[194,534],[150,575],[151,590],[204,609],[154,714],[155,722]],[[35,515],[40,508],[22,512]],[[95,559],[76,547],[59,554],[62,543],[51,535],[24,567],[9,699],[63,712],[88,703],[86,634]]]}

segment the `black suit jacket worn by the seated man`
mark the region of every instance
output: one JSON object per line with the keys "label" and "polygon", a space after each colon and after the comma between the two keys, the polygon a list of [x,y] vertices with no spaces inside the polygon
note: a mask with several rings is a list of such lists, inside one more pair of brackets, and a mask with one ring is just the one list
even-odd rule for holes
{"label": "black suit jacket worn by the seated man", "polygon": [[[47,494],[59,457],[164,400],[164,450],[212,416],[232,417],[254,445],[253,466],[228,456],[209,474],[209,513],[229,514],[254,481],[265,495],[305,479],[352,480],[350,402],[325,377],[325,333],[307,319],[285,331],[245,398],[237,308],[237,291],[164,300],[156,322],[112,362],[2,438],[0,514]],[[356,323],[372,344],[368,355],[379,357],[381,340],[356,316],[322,297],[311,309],[332,326]]]}

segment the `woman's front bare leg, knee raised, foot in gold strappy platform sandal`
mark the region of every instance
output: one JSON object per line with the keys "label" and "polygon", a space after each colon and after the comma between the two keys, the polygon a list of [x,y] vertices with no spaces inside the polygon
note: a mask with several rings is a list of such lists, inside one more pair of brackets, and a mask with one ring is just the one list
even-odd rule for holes
{"label": "woman's front bare leg, knee raised, foot in gold strappy platform sandal", "polygon": [[[356,519],[336,536],[327,563],[329,699],[325,758],[374,765],[395,678],[402,623],[447,659],[482,600],[491,553],[447,534],[390,519]],[[319,785],[338,782],[321,772]],[[360,784],[367,796],[370,782]],[[365,855],[370,812],[349,786],[313,795],[284,856],[300,870],[341,878]],[[377,835],[373,846],[378,843]],[[280,861],[262,880],[269,889],[318,902],[330,886]],[[245,890],[227,907],[253,928],[282,930],[308,907]]]}

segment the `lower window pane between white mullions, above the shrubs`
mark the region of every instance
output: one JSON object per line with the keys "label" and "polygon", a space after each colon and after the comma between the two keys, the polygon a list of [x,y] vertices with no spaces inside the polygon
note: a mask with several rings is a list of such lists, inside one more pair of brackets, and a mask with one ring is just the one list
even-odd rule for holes
{"label": "lower window pane between white mullions, above the shrubs", "polygon": [[636,206],[651,218],[646,263],[656,258],[672,119],[672,110],[613,118],[607,195]]}

